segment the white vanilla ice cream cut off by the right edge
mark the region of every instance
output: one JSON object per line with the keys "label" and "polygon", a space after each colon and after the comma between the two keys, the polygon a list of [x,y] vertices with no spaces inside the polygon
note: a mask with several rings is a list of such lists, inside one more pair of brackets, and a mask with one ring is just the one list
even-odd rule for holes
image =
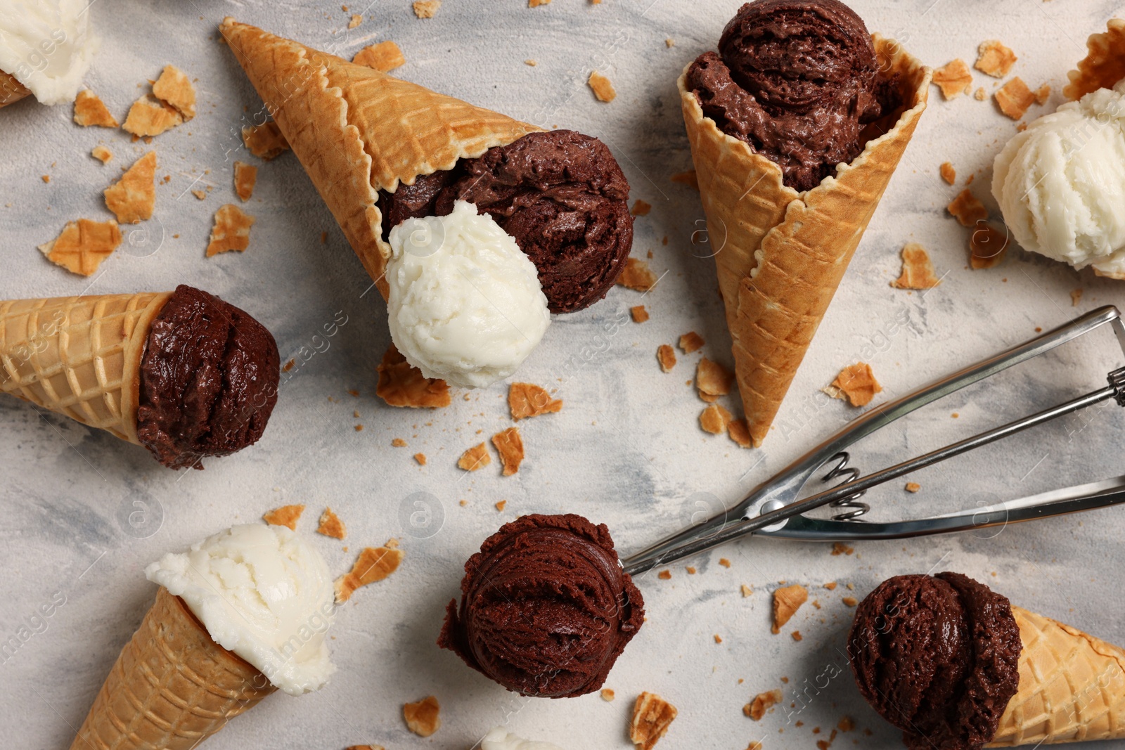
{"label": "white vanilla ice cream cut off by the right edge", "polygon": [[1125,278],[1125,81],[1017,134],[996,157],[992,195],[1025,250]]}

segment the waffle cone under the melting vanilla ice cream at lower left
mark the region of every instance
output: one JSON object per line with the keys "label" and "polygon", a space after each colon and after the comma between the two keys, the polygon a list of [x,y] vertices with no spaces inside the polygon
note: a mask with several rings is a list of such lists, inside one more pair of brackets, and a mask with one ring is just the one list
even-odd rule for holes
{"label": "waffle cone under the melting vanilla ice cream at lower left", "polygon": [[71,750],[188,750],[276,689],[161,588]]}

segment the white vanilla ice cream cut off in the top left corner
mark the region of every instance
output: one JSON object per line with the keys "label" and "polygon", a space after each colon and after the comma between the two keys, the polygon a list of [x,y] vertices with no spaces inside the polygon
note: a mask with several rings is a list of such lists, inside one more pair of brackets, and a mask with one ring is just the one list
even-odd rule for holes
{"label": "white vanilla ice cream cut off in the top left corner", "polygon": [[44,105],[74,101],[98,39],[89,0],[0,0],[0,71]]}

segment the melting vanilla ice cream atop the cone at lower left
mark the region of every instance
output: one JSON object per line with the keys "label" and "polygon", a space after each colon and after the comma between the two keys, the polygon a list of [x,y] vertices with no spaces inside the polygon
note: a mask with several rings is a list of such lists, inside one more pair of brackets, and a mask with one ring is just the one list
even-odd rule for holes
{"label": "melting vanilla ice cream atop the cone at lower left", "polygon": [[187,552],[165,554],[144,572],[278,689],[309,693],[335,671],[324,643],[335,613],[328,567],[289,528],[233,526]]}

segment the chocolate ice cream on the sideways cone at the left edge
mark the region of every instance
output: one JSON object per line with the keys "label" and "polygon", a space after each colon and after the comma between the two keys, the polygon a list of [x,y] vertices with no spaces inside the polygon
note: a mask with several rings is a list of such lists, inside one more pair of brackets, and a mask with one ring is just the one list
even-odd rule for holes
{"label": "chocolate ice cream on the sideways cone at the left edge", "polygon": [[171,469],[253,445],[277,404],[280,363],[261,323],[180,284],[148,333],[137,436]]}

